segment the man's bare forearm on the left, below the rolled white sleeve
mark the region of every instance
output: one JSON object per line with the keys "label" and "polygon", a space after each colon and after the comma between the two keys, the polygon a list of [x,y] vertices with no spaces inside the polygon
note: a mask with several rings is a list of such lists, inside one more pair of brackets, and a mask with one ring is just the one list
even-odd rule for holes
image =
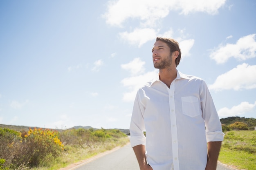
{"label": "man's bare forearm on the left, below the rolled white sleeve", "polygon": [[146,148],[144,145],[137,145],[133,147],[134,153],[139,163],[140,170],[152,170],[146,160]]}

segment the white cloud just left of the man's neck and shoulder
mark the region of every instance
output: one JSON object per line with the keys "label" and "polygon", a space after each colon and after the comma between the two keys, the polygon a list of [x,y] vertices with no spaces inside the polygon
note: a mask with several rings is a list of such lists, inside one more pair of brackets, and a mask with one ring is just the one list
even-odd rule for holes
{"label": "white cloud just left of the man's neck and shoulder", "polygon": [[129,89],[129,92],[124,93],[123,100],[125,102],[133,102],[138,89],[143,86],[146,82],[149,82],[155,76],[157,76],[158,70],[150,71],[142,75],[137,75],[133,77],[127,77],[121,81],[123,86]]}

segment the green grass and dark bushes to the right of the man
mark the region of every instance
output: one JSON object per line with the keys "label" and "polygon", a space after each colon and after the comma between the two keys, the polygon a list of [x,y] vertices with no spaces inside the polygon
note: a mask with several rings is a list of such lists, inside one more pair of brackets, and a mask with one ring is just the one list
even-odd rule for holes
{"label": "green grass and dark bushes to the right of the man", "polygon": [[222,124],[225,137],[219,161],[238,170],[256,170],[256,130],[254,130],[256,119],[239,119],[239,117],[227,119],[225,121],[229,121],[230,124]]}

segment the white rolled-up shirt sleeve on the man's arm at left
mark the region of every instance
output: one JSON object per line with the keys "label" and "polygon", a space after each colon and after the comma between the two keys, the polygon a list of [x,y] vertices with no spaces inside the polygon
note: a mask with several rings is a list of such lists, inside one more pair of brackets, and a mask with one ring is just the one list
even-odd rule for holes
{"label": "white rolled-up shirt sleeve on the man's arm at left", "polygon": [[141,102],[142,91],[138,91],[132,110],[130,121],[130,144],[132,147],[137,145],[146,145],[146,137],[144,135],[144,111],[145,106]]}

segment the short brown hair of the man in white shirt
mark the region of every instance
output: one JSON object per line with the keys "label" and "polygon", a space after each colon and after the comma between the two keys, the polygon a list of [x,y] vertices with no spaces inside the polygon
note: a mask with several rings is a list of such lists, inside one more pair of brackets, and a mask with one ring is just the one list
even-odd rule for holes
{"label": "short brown hair of the man in white shirt", "polygon": [[180,59],[181,59],[181,51],[180,51],[179,43],[176,40],[171,39],[171,38],[157,37],[156,40],[165,42],[168,45],[168,47],[170,48],[170,54],[174,51],[179,52],[178,57],[175,59],[175,64],[176,64],[176,67],[177,67],[179,65]]}

